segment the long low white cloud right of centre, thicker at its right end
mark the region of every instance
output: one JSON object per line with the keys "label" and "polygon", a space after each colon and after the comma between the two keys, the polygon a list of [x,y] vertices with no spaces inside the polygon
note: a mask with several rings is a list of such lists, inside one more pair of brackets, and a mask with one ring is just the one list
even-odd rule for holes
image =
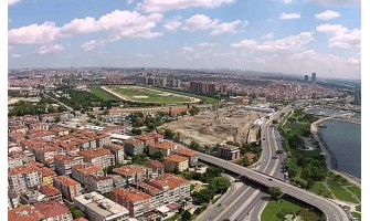
{"label": "long low white cloud right of centre, thicker at its right end", "polygon": [[258,44],[255,40],[242,40],[239,43],[232,43],[233,48],[250,49],[252,51],[261,52],[284,52],[284,51],[298,51],[304,45],[314,40],[313,33],[302,32],[297,35],[290,35],[285,39],[275,41],[265,41]]}

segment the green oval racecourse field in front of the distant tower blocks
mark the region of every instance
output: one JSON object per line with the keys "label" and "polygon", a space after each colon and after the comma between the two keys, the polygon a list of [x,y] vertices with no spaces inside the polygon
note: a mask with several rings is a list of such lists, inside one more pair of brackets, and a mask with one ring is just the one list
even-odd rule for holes
{"label": "green oval racecourse field in front of the distant tower blocks", "polygon": [[102,88],[121,97],[123,99],[139,103],[183,104],[197,103],[200,101],[199,98],[191,96],[184,96],[177,93],[163,92],[141,86],[107,86]]}

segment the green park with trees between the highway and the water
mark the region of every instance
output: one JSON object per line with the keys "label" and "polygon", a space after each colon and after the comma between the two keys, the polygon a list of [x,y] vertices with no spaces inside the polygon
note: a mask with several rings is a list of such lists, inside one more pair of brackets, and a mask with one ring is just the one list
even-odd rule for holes
{"label": "green park with trees between the highway and the water", "polygon": [[346,178],[327,169],[325,156],[319,148],[304,150],[305,139],[311,139],[310,124],[318,117],[296,109],[286,120],[279,125],[284,135],[284,146],[287,150],[286,170],[289,182],[307,189],[319,196],[355,203],[357,206],[355,217],[361,214],[361,189],[350,183]]}

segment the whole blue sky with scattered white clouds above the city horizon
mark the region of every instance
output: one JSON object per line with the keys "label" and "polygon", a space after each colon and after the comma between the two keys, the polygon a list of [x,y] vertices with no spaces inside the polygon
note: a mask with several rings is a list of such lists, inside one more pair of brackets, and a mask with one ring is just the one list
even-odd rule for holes
{"label": "whole blue sky with scattered white clouds above the city horizon", "polygon": [[359,0],[8,0],[9,69],[230,67],[360,78]]}

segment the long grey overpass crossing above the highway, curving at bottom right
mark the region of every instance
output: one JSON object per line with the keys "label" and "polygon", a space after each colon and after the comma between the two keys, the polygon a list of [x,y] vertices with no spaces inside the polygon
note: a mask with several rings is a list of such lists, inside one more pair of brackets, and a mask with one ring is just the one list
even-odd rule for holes
{"label": "long grey overpass crossing above the highway, curving at bottom right", "polygon": [[299,199],[321,210],[328,221],[349,221],[347,213],[338,204],[334,203],[328,199],[325,199],[320,196],[317,196],[293,185],[286,183],[282,180],[275,179],[271,176],[264,175],[260,171],[252,170],[203,152],[195,152],[198,154],[199,159],[202,161],[222,167],[229,171],[244,176],[247,179],[253,180],[265,187],[281,188],[284,193],[289,194],[290,197]]}

